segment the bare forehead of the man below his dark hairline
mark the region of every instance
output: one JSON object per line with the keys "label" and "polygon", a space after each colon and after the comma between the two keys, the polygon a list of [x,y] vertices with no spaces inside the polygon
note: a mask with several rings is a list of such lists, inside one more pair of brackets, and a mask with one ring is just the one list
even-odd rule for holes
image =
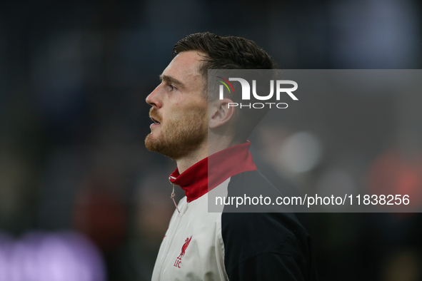
{"label": "bare forehead of the man below his dark hairline", "polygon": [[202,83],[201,73],[199,73],[199,64],[202,59],[198,51],[181,52],[164,69],[163,75],[176,78],[190,88]]}

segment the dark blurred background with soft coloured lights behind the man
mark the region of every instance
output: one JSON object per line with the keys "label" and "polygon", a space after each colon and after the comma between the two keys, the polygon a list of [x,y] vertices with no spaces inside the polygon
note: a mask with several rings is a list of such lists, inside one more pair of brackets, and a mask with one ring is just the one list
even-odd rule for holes
{"label": "dark blurred background with soft coloured lights behind the man", "polygon": [[[1,1],[0,280],[151,278],[176,163],[144,147],[145,98],[179,39],[243,36],[281,68],[417,69],[421,18],[411,0]],[[268,150],[253,155],[278,167],[268,178],[304,190],[416,192],[421,96],[356,93],[336,101],[341,112],[316,100],[297,118],[267,118],[251,141]],[[271,153],[310,140],[313,162]],[[301,220],[321,280],[422,280],[420,213]]]}

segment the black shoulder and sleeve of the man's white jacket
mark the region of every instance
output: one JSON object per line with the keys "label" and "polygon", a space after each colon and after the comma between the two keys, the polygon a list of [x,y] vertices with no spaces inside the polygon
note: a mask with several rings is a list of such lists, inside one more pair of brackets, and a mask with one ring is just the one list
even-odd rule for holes
{"label": "black shoulder and sleeve of the man's white jacket", "polygon": [[[242,195],[245,190],[248,195],[259,196],[273,190],[273,185],[256,171],[234,175],[228,195]],[[236,211],[226,205],[221,214],[224,266],[229,280],[317,279],[311,238],[293,213]]]}

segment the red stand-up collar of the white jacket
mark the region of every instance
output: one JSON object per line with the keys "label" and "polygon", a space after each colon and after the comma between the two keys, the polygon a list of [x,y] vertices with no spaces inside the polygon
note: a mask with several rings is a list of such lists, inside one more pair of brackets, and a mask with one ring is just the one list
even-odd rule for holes
{"label": "red stand-up collar of the white jacket", "polygon": [[241,143],[218,151],[192,165],[179,174],[176,168],[170,175],[170,182],[185,190],[188,202],[200,198],[224,180],[238,173],[256,170],[249,152],[251,143]]}

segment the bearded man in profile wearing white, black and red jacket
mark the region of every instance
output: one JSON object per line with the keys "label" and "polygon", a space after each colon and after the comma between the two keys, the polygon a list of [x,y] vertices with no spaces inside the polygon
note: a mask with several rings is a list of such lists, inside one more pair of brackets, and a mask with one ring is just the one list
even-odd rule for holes
{"label": "bearded man in profile wearing white, black and red jacket", "polygon": [[173,57],[146,98],[154,123],[145,144],[176,160],[169,180],[186,196],[176,205],[152,280],[314,280],[308,234],[292,213],[207,208],[212,188],[228,195],[246,186],[275,190],[256,169],[246,141],[266,111],[228,107],[234,96],[209,98],[207,71],[276,64],[253,41],[210,33],[181,39]]}

